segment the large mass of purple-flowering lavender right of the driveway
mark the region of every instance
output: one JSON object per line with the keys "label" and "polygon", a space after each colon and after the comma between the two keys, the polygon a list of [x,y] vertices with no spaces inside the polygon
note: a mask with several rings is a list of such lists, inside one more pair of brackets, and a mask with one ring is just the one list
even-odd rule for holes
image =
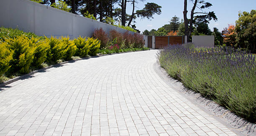
{"label": "large mass of purple-flowering lavender right of the driveway", "polygon": [[160,49],[158,62],[189,89],[256,122],[256,57],[231,48],[172,45]]}

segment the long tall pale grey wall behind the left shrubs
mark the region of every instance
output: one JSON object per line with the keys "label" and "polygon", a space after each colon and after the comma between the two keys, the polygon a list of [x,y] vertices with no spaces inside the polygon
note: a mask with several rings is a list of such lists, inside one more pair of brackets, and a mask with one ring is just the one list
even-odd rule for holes
{"label": "long tall pale grey wall behind the left shrubs", "polygon": [[69,35],[71,39],[79,35],[92,37],[94,30],[100,27],[107,34],[110,30],[127,31],[30,0],[0,0],[0,27],[18,28],[47,37]]}

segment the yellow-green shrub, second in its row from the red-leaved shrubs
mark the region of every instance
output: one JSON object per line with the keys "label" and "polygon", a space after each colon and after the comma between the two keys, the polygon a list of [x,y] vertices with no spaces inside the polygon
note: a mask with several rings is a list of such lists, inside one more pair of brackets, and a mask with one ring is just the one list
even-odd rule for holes
{"label": "yellow-green shrub, second in its row from the red-leaved shrubs", "polygon": [[75,53],[76,56],[79,57],[86,57],[89,52],[89,44],[86,42],[86,38],[84,37],[77,37],[74,39],[74,45],[77,46],[77,52]]}

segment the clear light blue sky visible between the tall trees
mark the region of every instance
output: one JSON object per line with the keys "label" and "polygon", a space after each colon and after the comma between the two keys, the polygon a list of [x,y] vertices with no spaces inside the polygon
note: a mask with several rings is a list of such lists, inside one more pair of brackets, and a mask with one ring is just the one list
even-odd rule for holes
{"label": "clear light blue sky visible between the tall trees", "polygon": [[[217,27],[220,31],[224,27],[227,27],[228,24],[235,24],[235,21],[238,20],[238,11],[247,11],[250,12],[252,9],[256,10],[256,0],[205,0],[212,3],[212,7],[207,9],[208,11],[214,11],[215,15],[218,18],[218,21],[211,21],[209,24],[210,29]],[[154,2],[162,6],[162,14],[154,15],[154,19],[136,19],[136,27],[141,32],[144,30],[158,29],[159,27],[168,24],[169,20],[176,15],[183,19],[183,9],[184,9],[184,0],[146,0],[145,2],[139,2],[137,7],[142,9],[146,2]],[[137,10],[138,10],[137,8]],[[192,9],[192,2],[188,0],[187,10]],[[132,6],[129,3],[126,9],[127,14],[131,14]],[[187,14],[187,17],[190,18],[190,12]]]}

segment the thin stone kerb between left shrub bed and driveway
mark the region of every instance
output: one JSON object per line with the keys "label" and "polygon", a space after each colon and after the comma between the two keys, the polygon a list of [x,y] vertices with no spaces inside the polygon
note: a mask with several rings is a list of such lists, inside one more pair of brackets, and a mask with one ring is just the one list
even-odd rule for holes
{"label": "thin stone kerb between left shrub bed and driveway", "polygon": [[[148,51],[148,50],[150,50],[150,49],[138,50],[138,51],[129,51],[129,52],[142,52],[142,51]],[[46,69],[50,69],[52,67],[59,67],[59,66],[61,66],[63,64],[66,64],[66,63],[72,63],[72,62],[76,62],[76,61],[82,60],[82,59],[90,59],[90,58],[95,58],[95,57],[102,57],[102,56],[113,55],[113,54],[121,54],[121,53],[128,53],[128,52],[118,52],[118,53],[110,53],[110,54],[98,54],[97,56],[90,56],[90,57],[84,57],[84,58],[81,58],[81,59],[75,59],[75,60],[69,60],[69,61],[66,61],[66,62],[61,62],[61,63],[54,64],[54,65],[51,65],[51,66],[48,66],[48,67],[45,67],[45,68],[42,68],[42,69],[34,70],[32,72],[29,72],[28,74],[24,74],[24,75],[22,75],[20,77],[15,77],[13,79],[5,81],[5,82],[0,84],[0,87],[4,87],[4,86],[6,86],[8,84],[11,84],[13,82],[16,82],[16,81],[18,81],[20,79],[26,79],[26,77],[31,76],[32,74],[35,74],[35,73],[38,73],[38,72],[42,72],[42,71],[44,71]]]}

